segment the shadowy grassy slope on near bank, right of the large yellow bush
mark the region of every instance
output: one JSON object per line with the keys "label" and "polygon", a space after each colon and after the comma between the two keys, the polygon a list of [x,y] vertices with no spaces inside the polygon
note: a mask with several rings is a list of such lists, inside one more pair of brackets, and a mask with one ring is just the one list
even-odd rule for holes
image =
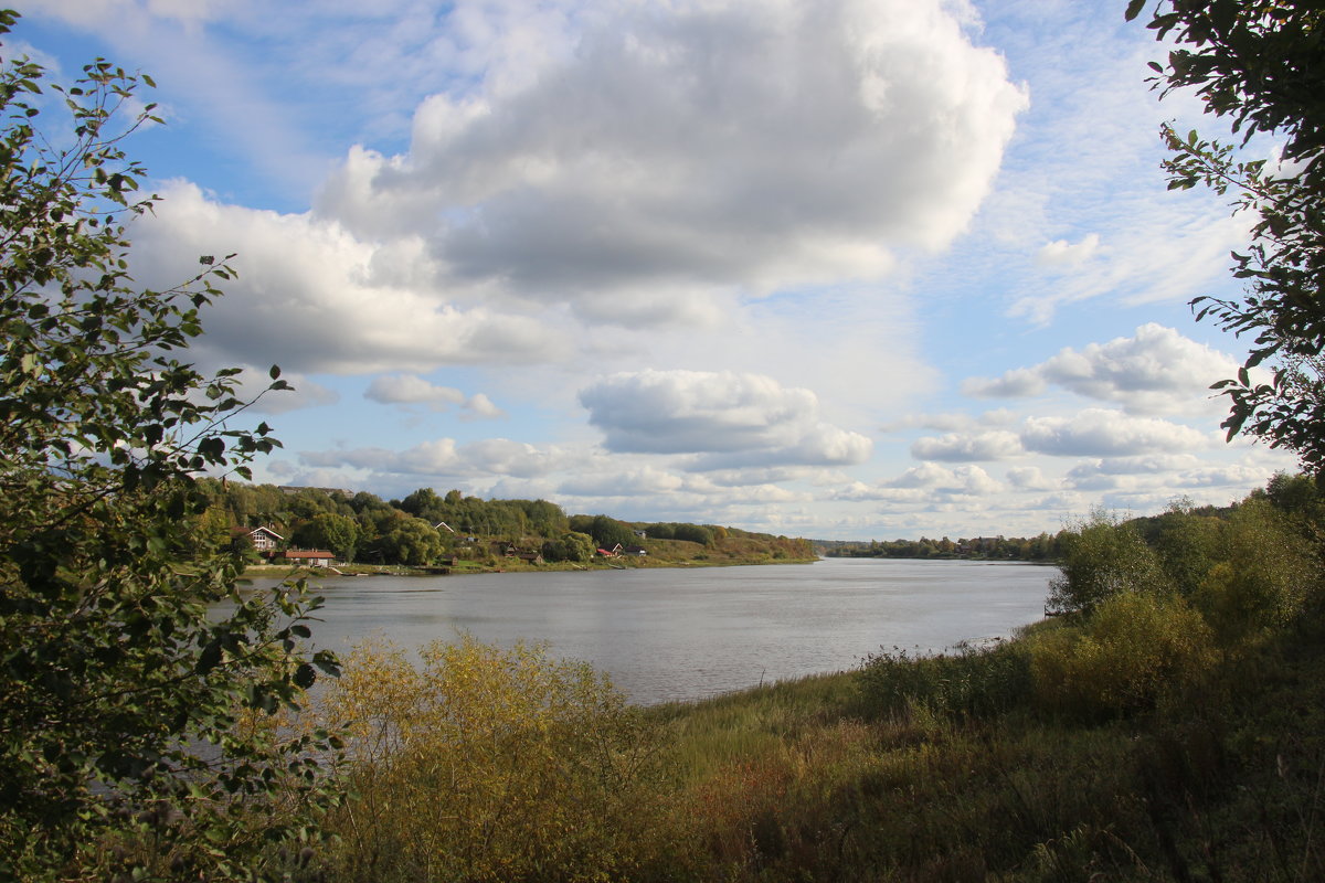
{"label": "shadowy grassy slope on near bank, right of the large yellow bush", "polygon": [[[1065,627],[649,710],[705,875],[1325,879],[1318,641],[1280,635],[1150,710],[1084,721],[1008,663]],[[973,683],[1004,698],[971,703]]]}

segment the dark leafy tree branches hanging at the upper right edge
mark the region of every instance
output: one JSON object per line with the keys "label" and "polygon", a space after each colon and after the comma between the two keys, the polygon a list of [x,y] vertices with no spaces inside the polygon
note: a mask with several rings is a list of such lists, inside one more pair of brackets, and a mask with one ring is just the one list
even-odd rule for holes
{"label": "dark leafy tree branches hanging at the upper right edge", "polygon": [[[1146,0],[1130,0],[1137,17]],[[1232,193],[1235,210],[1257,216],[1234,275],[1240,301],[1196,298],[1196,318],[1251,335],[1236,377],[1212,388],[1230,397],[1228,438],[1244,433],[1285,447],[1320,475],[1325,469],[1325,11],[1316,0],[1163,0],[1149,24],[1175,38],[1167,65],[1151,62],[1163,94],[1195,90],[1206,113],[1227,118],[1242,146],[1257,132],[1283,136],[1277,163],[1240,162],[1236,147],[1186,136],[1163,138],[1170,189],[1203,184]],[[1251,375],[1272,369],[1263,383]]]}

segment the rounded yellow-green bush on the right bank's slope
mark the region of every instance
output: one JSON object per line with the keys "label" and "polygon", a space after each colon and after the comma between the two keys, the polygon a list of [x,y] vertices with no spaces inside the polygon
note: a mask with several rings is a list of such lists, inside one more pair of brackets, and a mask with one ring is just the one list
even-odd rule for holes
{"label": "rounded yellow-green bush on the right bank's slope", "polygon": [[1122,592],[1079,627],[1031,641],[1031,676],[1051,710],[1097,719],[1154,704],[1215,662],[1210,626],[1177,596]]}

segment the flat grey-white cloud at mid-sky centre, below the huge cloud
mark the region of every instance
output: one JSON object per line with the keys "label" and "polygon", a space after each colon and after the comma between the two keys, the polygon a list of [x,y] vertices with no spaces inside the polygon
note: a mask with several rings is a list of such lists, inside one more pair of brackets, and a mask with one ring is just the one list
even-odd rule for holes
{"label": "flat grey-white cloud at mid-sky centre, below the huge cloud", "polygon": [[762,375],[617,373],[579,398],[608,450],[705,454],[697,469],[859,463],[872,450],[864,436],[823,422],[812,392]]}

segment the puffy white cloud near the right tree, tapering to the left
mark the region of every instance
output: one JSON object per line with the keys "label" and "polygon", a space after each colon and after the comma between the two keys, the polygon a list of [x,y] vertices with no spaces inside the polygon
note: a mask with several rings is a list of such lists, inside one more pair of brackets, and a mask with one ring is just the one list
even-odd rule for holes
{"label": "puffy white cloud near the right tree, tapering to the left", "polygon": [[1132,338],[1065,347],[1034,368],[1015,368],[994,380],[973,377],[962,392],[980,398],[1037,396],[1055,384],[1116,402],[1128,413],[1207,413],[1223,408],[1211,402],[1210,384],[1236,369],[1232,357],[1151,322]]}

